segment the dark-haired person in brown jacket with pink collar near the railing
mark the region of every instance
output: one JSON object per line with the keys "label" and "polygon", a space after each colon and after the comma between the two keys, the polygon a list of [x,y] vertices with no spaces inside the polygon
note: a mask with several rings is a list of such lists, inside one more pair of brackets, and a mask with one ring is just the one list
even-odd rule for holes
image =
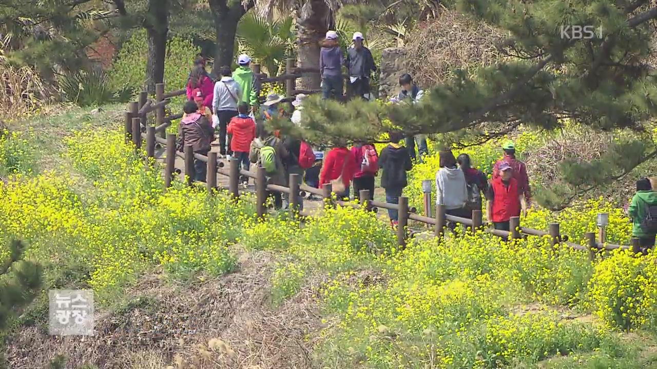
{"label": "dark-haired person in brown jacket with pink collar near the railing", "polygon": [[[185,118],[178,126],[178,137],[183,148],[192,146],[195,154],[207,156],[210,151],[210,142],[214,141],[214,130],[210,121],[198,112],[198,106],[193,101],[185,102],[183,112],[185,112]],[[194,158],[194,180],[205,182],[206,175],[206,163]]]}

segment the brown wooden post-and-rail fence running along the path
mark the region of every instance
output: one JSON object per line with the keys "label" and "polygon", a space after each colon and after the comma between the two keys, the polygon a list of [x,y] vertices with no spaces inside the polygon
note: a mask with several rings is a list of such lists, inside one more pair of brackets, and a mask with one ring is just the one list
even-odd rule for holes
{"label": "brown wooden post-and-rail fence running along the path", "polygon": [[[289,85],[288,88],[290,88]],[[357,203],[344,202],[342,200],[336,200],[332,194],[332,188],[329,183],[323,185],[321,189],[314,188],[302,184],[302,177],[300,175],[290,174],[289,186],[274,185],[267,181],[265,176],[265,169],[263,167],[257,167],[255,172],[239,169],[238,160],[233,158],[229,161],[228,168],[224,168],[223,163],[217,162],[216,152],[209,152],[208,156],[195,154],[192,146],[185,146],[183,153],[177,152],[176,135],[171,133],[166,134],[166,127],[171,124],[173,119],[181,118],[182,114],[165,116],[164,107],[166,104],[168,104],[168,102],[170,102],[169,99],[171,97],[176,97],[184,94],[185,90],[164,93],[164,84],[160,83],[156,85],[156,98],[154,101],[148,100],[146,93],[141,93],[139,95],[139,101],[129,103],[128,111],[125,112],[125,140],[126,143],[132,142],[136,152],[141,152],[142,143],[145,142],[147,157],[154,159],[156,148],[166,148],[164,168],[164,180],[166,186],[171,186],[174,175],[181,174],[181,171],[175,168],[175,158],[178,156],[183,158],[184,173],[186,175],[187,185],[189,186],[193,185],[194,159],[201,160],[202,162],[206,163],[208,173],[206,179],[206,188],[209,194],[214,194],[215,190],[219,188],[217,174],[228,177],[229,185],[225,189],[227,189],[231,196],[235,199],[239,198],[240,196],[240,176],[246,176],[248,178],[254,179],[256,185],[256,211],[258,217],[264,217],[267,211],[265,204],[267,202],[268,191],[298,195],[289,196],[291,209],[290,216],[309,217],[311,214],[304,211],[297,211],[297,209],[300,209],[300,206],[302,205],[299,203],[300,198],[303,197],[304,192],[308,192],[310,194],[321,196],[325,204],[328,206],[350,206],[354,208],[364,208],[368,211],[377,211],[379,208],[397,210],[399,213],[399,223],[397,225],[397,243],[400,246],[405,245],[407,238],[409,237],[409,221],[416,221],[433,227],[434,234],[437,237],[443,236],[447,222],[462,224],[468,228],[469,232],[483,230],[489,234],[510,240],[526,238],[528,236],[549,236],[553,246],[556,244],[566,244],[576,250],[588,251],[591,260],[595,259],[595,255],[603,250],[631,248],[634,253],[639,253],[641,251],[639,248],[638,238],[633,238],[631,240],[631,246],[621,246],[599,242],[599,240],[597,240],[595,237],[595,233],[588,232],[585,234],[587,245],[582,246],[581,244],[568,242],[568,237],[566,235],[562,235],[560,232],[559,223],[550,223],[547,230],[537,230],[528,227],[521,227],[520,217],[511,217],[509,227],[511,229],[510,232],[484,227],[484,223],[482,221],[482,211],[480,210],[472,211],[472,218],[467,219],[446,214],[445,207],[438,205],[435,207],[435,215],[433,217],[427,216],[431,213],[430,209],[424,209],[425,215],[419,215],[415,207],[409,207],[407,197],[401,196],[399,198],[399,204],[369,200],[369,190],[361,190],[359,194],[357,194],[359,198],[359,202]],[[147,114],[150,112],[155,112],[156,114],[156,125],[147,125]],[[160,133],[160,135],[158,136],[156,133]],[[428,202],[425,201],[425,204],[431,204],[431,194],[425,193],[424,196],[428,196],[429,199]]]}

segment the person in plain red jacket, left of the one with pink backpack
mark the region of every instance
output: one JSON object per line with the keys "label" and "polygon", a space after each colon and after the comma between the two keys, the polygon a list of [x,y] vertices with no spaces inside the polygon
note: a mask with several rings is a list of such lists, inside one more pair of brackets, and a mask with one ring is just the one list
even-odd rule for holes
{"label": "person in plain red jacket, left of the one with pink backpack", "polygon": [[[319,174],[319,188],[327,183],[333,185],[333,192],[340,199],[349,198],[349,186],[356,171],[356,161],[344,142],[338,142],[324,159],[322,171]],[[338,180],[342,181],[338,181]],[[341,189],[340,187],[344,188]]]}

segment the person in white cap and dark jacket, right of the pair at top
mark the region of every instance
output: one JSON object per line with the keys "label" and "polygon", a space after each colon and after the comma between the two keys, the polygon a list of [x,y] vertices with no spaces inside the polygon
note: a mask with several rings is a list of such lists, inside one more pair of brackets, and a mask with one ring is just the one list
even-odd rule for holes
{"label": "person in white cap and dark jacket, right of the pair at top", "polygon": [[344,65],[349,72],[350,97],[361,97],[369,100],[370,97],[370,77],[372,72],[376,72],[376,64],[372,53],[367,47],[363,46],[363,33],[353,33],[353,47],[347,51],[347,57]]}

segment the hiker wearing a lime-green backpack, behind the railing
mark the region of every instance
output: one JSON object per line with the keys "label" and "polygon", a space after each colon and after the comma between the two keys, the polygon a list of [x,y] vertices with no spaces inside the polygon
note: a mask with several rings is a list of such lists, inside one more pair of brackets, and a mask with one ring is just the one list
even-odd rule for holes
{"label": "hiker wearing a lime-green backpack, behind the railing", "polygon": [[[256,131],[258,131],[258,138],[251,142],[249,160],[265,168],[267,178],[271,179],[269,183],[287,186],[283,162],[288,157],[288,151],[283,141],[267,131],[262,123],[258,124]],[[283,198],[280,192],[269,192],[269,196],[274,198],[275,209],[283,207]]]}

